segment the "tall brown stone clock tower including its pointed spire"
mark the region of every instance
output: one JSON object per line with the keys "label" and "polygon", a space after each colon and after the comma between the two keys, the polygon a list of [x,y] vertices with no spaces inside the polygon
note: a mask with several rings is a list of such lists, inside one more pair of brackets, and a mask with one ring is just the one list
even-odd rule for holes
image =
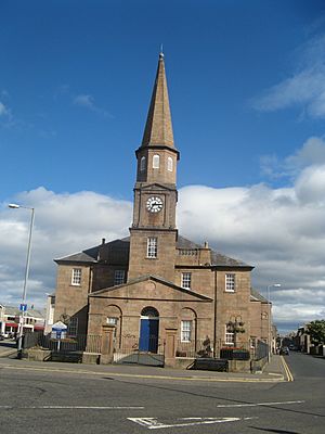
{"label": "tall brown stone clock tower including its pointed spire", "polygon": [[174,280],[177,163],[165,73],[159,54],[144,135],[136,155],[128,280],[155,275]]}

